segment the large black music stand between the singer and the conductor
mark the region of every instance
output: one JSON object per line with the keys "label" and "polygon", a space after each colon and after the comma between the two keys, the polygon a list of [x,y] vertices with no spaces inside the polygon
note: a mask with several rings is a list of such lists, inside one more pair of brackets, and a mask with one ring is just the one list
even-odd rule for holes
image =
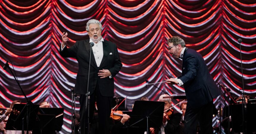
{"label": "large black music stand between the singer and the conductor", "polygon": [[163,122],[164,102],[137,100],[132,109],[130,127],[159,128]]}

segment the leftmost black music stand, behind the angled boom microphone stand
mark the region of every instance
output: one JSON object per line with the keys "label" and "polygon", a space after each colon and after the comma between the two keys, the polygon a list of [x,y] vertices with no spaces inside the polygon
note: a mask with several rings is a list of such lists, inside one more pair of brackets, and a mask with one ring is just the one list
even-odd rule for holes
{"label": "leftmost black music stand, behind the angled boom microphone stand", "polygon": [[[29,109],[29,125],[28,129],[27,127],[27,108]],[[35,127],[35,121],[37,119],[37,113],[38,113],[39,105],[32,105],[27,106],[27,104],[14,104],[13,109],[20,111],[18,115],[15,115],[13,112],[10,114],[7,123],[6,123],[6,130],[22,130],[24,127],[24,130],[30,131]],[[24,126],[22,126],[22,124]]]}

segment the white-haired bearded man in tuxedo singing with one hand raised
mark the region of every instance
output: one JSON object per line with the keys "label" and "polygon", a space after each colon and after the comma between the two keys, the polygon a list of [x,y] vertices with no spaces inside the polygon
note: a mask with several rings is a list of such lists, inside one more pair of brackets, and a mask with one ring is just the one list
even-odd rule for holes
{"label": "white-haired bearded man in tuxedo singing with one hand raised", "polygon": [[[99,20],[89,20],[86,31],[90,39],[77,41],[72,47],[67,48],[68,34],[63,33],[60,55],[62,57],[74,57],[78,61],[78,73],[74,93],[80,94],[80,126],[81,133],[87,133],[88,112],[86,107],[87,82],[89,80],[90,92],[90,121],[93,118],[95,101],[98,106],[99,133],[109,133],[109,118],[111,102],[114,96],[114,76],[120,71],[120,61],[117,47],[114,43],[102,38],[102,24]],[[90,57],[90,43],[93,43]],[[90,63],[90,76],[88,68]]]}

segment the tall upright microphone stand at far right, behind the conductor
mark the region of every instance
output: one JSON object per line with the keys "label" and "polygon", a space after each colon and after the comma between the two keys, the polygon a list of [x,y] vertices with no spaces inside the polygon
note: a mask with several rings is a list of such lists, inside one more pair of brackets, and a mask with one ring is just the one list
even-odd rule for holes
{"label": "tall upright microphone stand at far right, behind the conductor", "polygon": [[242,90],[242,114],[243,114],[243,133],[247,133],[247,127],[246,127],[246,102],[245,102],[245,92],[244,92],[244,83],[243,83],[243,63],[242,63],[242,52],[241,52],[241,42],[242,39],[238,39],[239,47],[240,47],[240,60],[241,60],[241,70],[242,70],[242,84],[243,84],[243,90]]}

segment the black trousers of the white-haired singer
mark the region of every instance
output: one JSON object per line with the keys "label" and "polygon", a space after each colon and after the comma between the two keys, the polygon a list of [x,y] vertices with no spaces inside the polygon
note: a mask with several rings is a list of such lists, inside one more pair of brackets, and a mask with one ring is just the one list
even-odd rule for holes
{"label": "black trousers of the white-haired singer", "polygon": [[[93,113],[95,109],[95,101],[98,107],[99,116],[99,134],[109,134],[109,121],[111,112],[111,102],[113,97],[102,96],[99,91],[99,85],[97,83],[96,88],[92,95],[90,95],[90,122],[93,119]],[[86,95],[80,95],[80,127],[81,134],[87,134],[88,130],[88,112],[85,110],[86,107]]]}

